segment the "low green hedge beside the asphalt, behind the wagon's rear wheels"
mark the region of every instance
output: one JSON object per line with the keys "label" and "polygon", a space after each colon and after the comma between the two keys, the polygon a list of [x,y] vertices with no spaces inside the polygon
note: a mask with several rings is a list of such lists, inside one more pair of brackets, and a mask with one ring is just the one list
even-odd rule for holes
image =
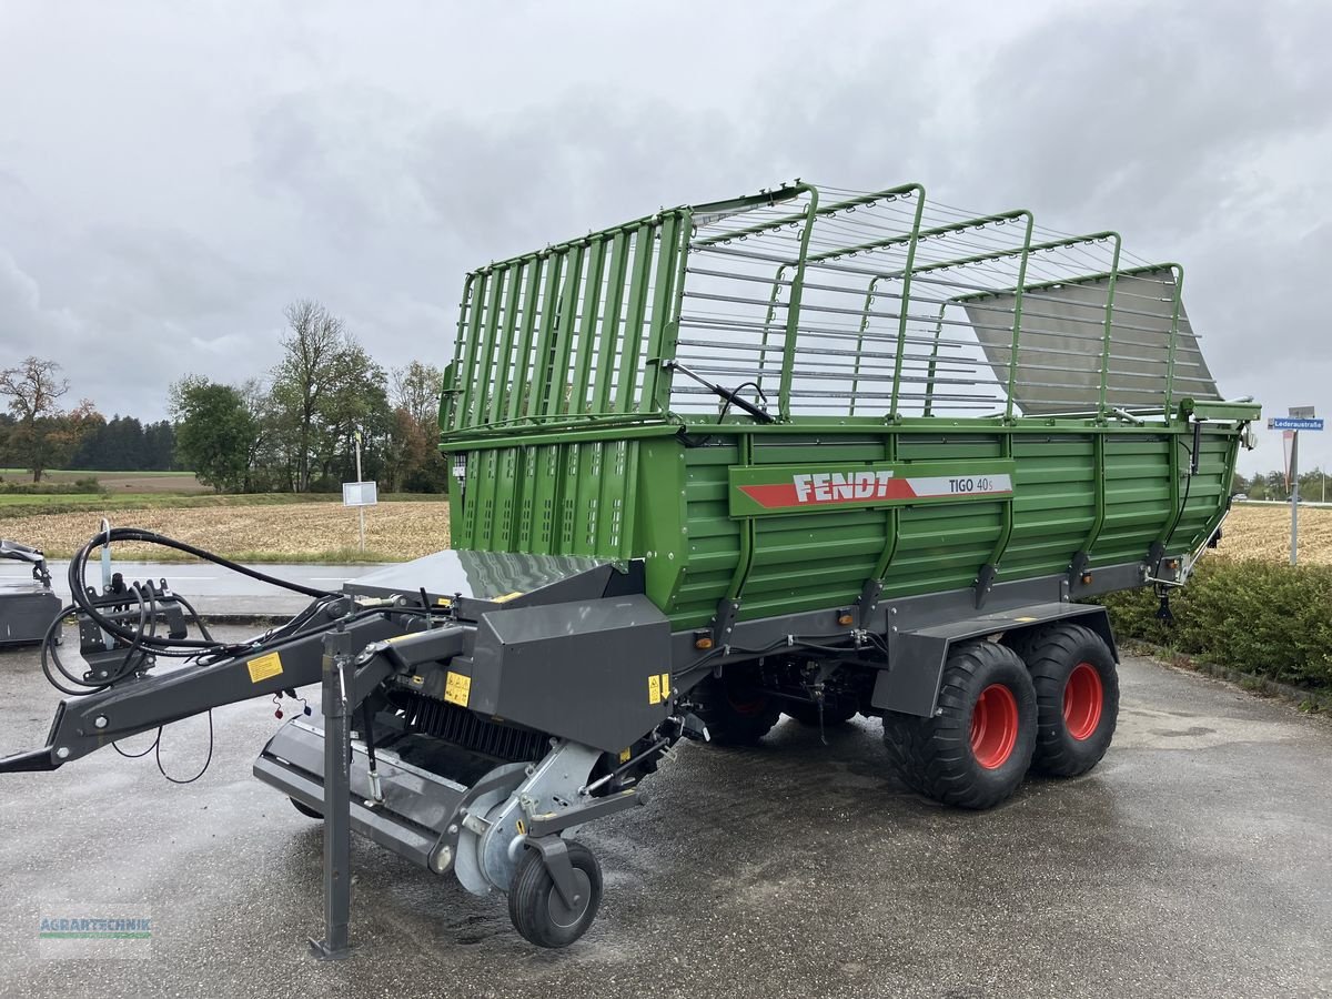
{"label": "low green hedge beside the asphalt, behind the wagon's rear wheels", "polygon": [[1150,589],[1104,601],[1120,638],[1139,638],[1283,683],[1332,687],[1332,566],[1205,558],[1171,591],[1175,625]]}

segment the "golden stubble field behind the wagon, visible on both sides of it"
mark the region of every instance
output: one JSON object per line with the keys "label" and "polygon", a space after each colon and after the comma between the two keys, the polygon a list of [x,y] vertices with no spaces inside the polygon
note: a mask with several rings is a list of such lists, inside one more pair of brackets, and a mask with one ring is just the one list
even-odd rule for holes
{"label": "golden stubble field behind the wagon, visible on both sides of it", "polygon": [[[67,497],[53,497],[64,500]],[[282,500],[256,503],[256,500]],[[88,497],[96,501],[96,497]],[[60,558],[73,553],[97,531],[108,515],[116,526],[147,527],[222,555],[249,561],[405,561],[449,546],[449,505],[430,500],[381,502],[365,511],[365,554],[357,550],[356,510],[333,497],[155,497],[140,509],[89,502],[87,510],[5,515],[0,505],[0,537],[35,545]],[[193,506],[190,503],[208,503]],[[1236,505],[1225,521],[1219,554],[1284,562],[1289,558],[1288,506]],[[120,547],[120,546],[117,546]],[[124,546],[124,554],[133,554]],[[163,555],[157,549],[153,558]],[[1332,565],[1332,507],[1300,509],[1300,561]]]}

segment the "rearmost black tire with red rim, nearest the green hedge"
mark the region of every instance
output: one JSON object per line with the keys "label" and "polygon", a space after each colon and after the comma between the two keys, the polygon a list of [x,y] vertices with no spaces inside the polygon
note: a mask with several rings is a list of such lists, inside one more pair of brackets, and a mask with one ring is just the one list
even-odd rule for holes
{"label": "rearmost black tire with red rim, nearest the green hedge", "polygon": [[1079,777],[1096,766],[1115,737],[1119,674],[1106,639],[1086,625],[1063,622],[1012,642],[1036,687],[1032,766],[1052,777]]}

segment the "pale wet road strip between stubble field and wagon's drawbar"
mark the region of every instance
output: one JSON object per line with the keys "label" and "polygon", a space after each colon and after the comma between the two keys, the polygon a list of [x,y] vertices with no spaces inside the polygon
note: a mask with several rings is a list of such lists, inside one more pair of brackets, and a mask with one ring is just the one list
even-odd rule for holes
{"label": "pale wet road strip between stubble field and wagon's drawbar", "polygon": [[[51,587],[61,601],[69,599],[67,574],[68,561],[47,563],[51,571]],[[254,565],[248,566],[260,573],[300,583],[316,590],[341,590],[342,583],[365,573],[380,569],[378,565]],[[309,597],[290,590],[282,590],[270,583],[233,573],[222,566],[208,562],[131,562],[116,559],[112,571],[121,573],[127,582],[165,579],[168,585],[189,599],[200,614],[214,618],[246,617],[290,617],[305,609]],[[88,566],[87,579],[93,586],[101,586],[101,563]],[[8,585],[27,589],[32,583],[32,567],[23,562],[0,559],[0,591]]]}

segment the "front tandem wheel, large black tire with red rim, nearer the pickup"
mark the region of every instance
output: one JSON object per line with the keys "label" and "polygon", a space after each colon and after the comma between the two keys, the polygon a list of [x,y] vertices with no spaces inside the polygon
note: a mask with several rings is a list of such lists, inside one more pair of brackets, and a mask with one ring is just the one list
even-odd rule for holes
{"label": "front tandem wheel, large black tire with red rim, nearer the pickup", "polygon": [[954,646],[932,718],[888,711],[883,745],[911,790],[943,805],[1007,799],[1036,747],[1036,691],[1022,658],[995,642]]}

